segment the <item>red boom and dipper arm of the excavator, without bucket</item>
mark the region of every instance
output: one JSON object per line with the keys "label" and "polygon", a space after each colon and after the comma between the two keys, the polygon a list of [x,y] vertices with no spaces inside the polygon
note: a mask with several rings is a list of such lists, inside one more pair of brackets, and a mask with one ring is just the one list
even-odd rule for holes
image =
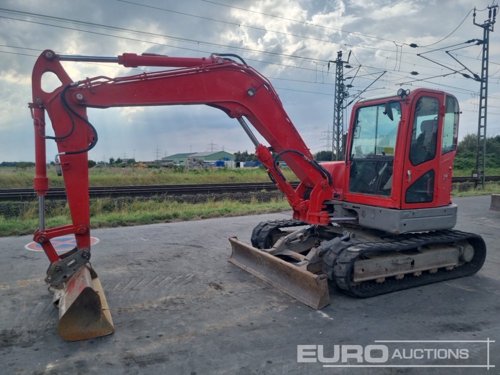
{"label": "red boom and dipper arm of the excavator, without bucket", "polygon": [[[332,187],[325,176],[307,161],[313,158],[312,154],[283,109],[276,91],[260,73],[247,65],[220,57],[179,58],[125,53],[118,56],[118,61],[126,66],[183,67],[126,77],[87,78],[71,87],[67,86],[73,79],[53,51],[44,51],[33,68],[33,102],[30,107],[35,125],[37,175],[34,187],[39,195],[48,188],[43,167],[45,138],[40,131],[44,127],[46,111],[55,136],[61,137],[56,143],[62,153],[60,165],[72,218],[72,225],[38,230],[35,234],[35,241],[42,245],[51,262],[59,260],[50,244],[50,238],[55,236],[74,233],[78,248],[90,248],[87,152],[63,154],[83,150],[92,142],[92,129],[82,119],[87,118],[87,107],[206,104],[221,109],[229,117],[246,117],[275,152],[291,149],[301,153],[285,152],[281,156],[302,181],[294,190],[275,169],[268,148],[263,145],[256,147],[257,157],[285,193],[293,216],[314,224],[329,221],[328,213],[322,210],[322,202],[331,198]],[[62,82],[52,92],[45,92],[41,87],[41,77],[46,72],[55,74]],[[248,89],[253,89],[254,95],[249,95]],[[61,100],[63,90],[69,106],[81,118],[68,114]],[[310,190],[309,197],[305,198],[307,190]]]}

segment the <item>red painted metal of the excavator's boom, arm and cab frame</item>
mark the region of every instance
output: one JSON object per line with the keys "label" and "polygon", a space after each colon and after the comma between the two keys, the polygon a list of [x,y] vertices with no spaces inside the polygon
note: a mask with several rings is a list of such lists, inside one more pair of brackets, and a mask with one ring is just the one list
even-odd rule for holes
{"label": "red painted metal of the excavator's boom, arm and cab frame", "polygon": [[[416,100],[423,95],[435,97],[439,106],[444,108],[446,94],[442,91],[416,89],[405,98],[394,96],[354,105],[353,114],[361,106],[382,104],[388,99],[401,103],[390,196],[369,195],[349,192],[350,151],[346,153],[344,162],[325,164],[325,168],[333,175],[330,185],[328,176],[311,162],[312,154],[283,109],[271,83],[250,66],[218,56],[184,58],[124,53],[116,61],[125,66],[176,68],[115,78],[98,76],[73,83],[60,64],[58,55],[46,50],[38,57],[33,69],[33,102],[29,105],[35,128],[34,188],[38,195],[45,194],[48,188],[45,170],[46,139],[43,137],[46,111],[54,134],[58,137],[56,143],[61,153],[60,165],[72,217],[71,225],[42,229],[35,233],[35,241],[42,245],[51,262],[60,259],[50,244],[50,239],[56,236],[75,234],[79,249],[90,248],[87,152],[74,153],[85,150],[96,136],[86,120],[87,107],[205,104],[221,109],[232,118],[245,117],[269,142],[273,151],[283,152],[282,159],[300,179],[300,185],[293,189],[275,167],[268,147],[262,144],[256,146],[256,156],[266,166],[277,187],[284,192],[292,207],[293,217],[311,224],[329,222],[329,212],[325,211],[323,202],[332,198],[397,209],[433,207],[449,202],[454,152],[441,156],[439,140],[442,138],[444,109],[439,112],[436,156],[417,166],[413,166],[408,158]],[[46,72],[55,74],[62,83],[52,92],[45,92],[41,88],[41,77]],[[64,105],[61,97],[63,93],[73,113]],[[349,134],[351,129],[352,123]],[[346,150],[350,150],[351,144],[352,137],[348,136]],[[405,203],[404,196],[409,187],[405,176],[411,173],[412,180],[415,180],[429,168],[435,170],[434,189],[429,192],[434,196],[432,201]]]}

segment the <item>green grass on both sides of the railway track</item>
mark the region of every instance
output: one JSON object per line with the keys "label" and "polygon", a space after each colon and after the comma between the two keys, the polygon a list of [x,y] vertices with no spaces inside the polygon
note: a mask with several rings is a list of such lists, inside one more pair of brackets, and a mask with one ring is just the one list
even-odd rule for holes
{"label": "green grass on both sides of the railway track", "polygon": [[[296,180],[291,171],[284,171],[289,180]],[[500,170],[496,171],[500,174]],[[34,170],[0,168],[0,188],[31,187]],[[467,175],[467,174],[466,174]],[[487,175],[493,175],[487,173]],[[51,186],[63,186],[62,178],[55,169],[49,168]],[[268,181],[260,168],[194,170],[189,172],[146,168],[92,168],[89,173],[91,186],[107,185],[150,185],[185,183],[226,183]],[[472,184],[455,184],[453,196],[500,193],[500,184],[488,183],[484,190],[470,188]],[[465,187],[465,189],[464,189]],[[275,194],[268,201],[255,198],[242,202],[236,199],[208,199],[202,203],[164,201],[158,199],[132,199],[117,204],[115,199],[97,198],[90,202],[90,225],[112,227],[139,225],[156,222],[195,220],[209,217],[237,216],[269,213],[289,209],[281,194]],[[32,234],[38,226],[36,201],[24,204],[14,215],[0,213],[0,236]],[[8,218],[7,218],[8,217]],[[46,227],[71,223],[67,204],[57,205],[47,212]]]}

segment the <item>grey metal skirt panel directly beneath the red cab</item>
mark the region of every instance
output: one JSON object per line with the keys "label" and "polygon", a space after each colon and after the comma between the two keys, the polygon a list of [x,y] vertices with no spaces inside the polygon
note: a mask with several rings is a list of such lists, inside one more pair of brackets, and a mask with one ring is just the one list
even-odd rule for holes
{"label": "grey metal skirt panel directly beneath the red cab", "polygon": [[417,209],[393,209],[352,203],[343,203],[342,207],[357,212],[359,225],[395,234],[450,229],[456,224],[456,204]]}

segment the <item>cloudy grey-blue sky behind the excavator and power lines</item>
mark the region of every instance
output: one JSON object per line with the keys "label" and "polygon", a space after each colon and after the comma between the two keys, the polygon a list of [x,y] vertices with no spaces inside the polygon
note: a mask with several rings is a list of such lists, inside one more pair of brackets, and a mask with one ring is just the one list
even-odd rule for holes
{"label": "cloudy grey-blue sky behind the excavator and power lines", "polygon": [[[353,86],[348,101],[401,86],[439,88],[460,102],[459,136],[476,133],[479,83],[453,71],[462,63],[480,74],[481,47],[460,43],[482,38],[472,8],[478,9],[476,22],[483,23],[488,14],[479,10],[487,5],[485,0],[1,0],[0,161],[34,160],[27,103],[31,70],[44,49],[95,56],[236,53],[270,79],[312,152],[329,148],[335,76],[328,60],[338,51],[347,58],[350,51],[352,68],[344,69],[352,77],[346,82]],[[500,32],[490,34],[487,135],[500,133],[499,40]],[[444,52],[464,45],[452,52],[460,63]],[[137,73],[114,64],[63,65],[73,80]],[[96,161],[209,149],[253,152],[235,119],[206,106],[89,109],[88,117],[99,135],[89,152]],[[344,115],[349,117],[350,107]],[[49,140],[47,160],[55,153]]]}

